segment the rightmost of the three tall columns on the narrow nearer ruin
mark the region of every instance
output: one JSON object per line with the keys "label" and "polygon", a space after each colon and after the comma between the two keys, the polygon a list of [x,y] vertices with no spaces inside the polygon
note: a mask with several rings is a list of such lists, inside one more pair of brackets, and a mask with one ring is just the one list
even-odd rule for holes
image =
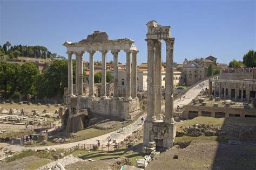
{"label": "rightmost of the three tall columns on the narrow nearer ruin", "polygon": [[165,71],[165,122],[174,123],[173,119],[173,45],[174,38],[165,40],[166,71]]}

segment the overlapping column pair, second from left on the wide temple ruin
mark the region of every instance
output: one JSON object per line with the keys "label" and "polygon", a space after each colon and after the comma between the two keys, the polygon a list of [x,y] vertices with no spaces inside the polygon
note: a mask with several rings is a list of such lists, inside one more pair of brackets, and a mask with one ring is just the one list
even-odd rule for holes
{"label": "overlapping column pair, second from left on the wide temple ruin", "polygon": [[76,52],[77,62],[78,62],[78,70],[77,70],[77,95],[83,95],[83,54],[84,52]]}

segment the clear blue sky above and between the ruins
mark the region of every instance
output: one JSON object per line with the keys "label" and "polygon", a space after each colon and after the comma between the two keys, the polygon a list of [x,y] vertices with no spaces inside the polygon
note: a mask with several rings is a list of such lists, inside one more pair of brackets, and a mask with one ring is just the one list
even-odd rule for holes
{"label": "clear blue sky above and between the ruins", "polygon": [[[110,39],[130,38],[137,46],[138,63],[147,61],[146,23],[171,26],[174,62],[212,53],[217,62],[242,60],[256,47],[256,1],[59,1],[0,0],[0,42],[42,45],[66,56],[63,42],[85,39],[95,30]],[[165,61],[165,43],[162,44]],[[112,60],[107,54],[107,60]],[[89,53],[84,54],[89,60]],[[95,54],[100,60],[100,53]],[[125,53],[119,61],[125,63]]]}

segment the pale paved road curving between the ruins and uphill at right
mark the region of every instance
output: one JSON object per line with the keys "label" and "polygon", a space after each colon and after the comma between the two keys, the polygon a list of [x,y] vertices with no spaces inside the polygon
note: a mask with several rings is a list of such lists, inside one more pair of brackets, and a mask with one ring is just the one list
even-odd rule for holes
{"label": "pale paved road curving between the ruins and uphill at right", "polygon": [[[198,94],[200,93],[200,91],[205,88],[208,87],[208,80],[204,81],[205,86],[204,87],[199,87],[199,84],[188,90],[187,93],[185,94],[185,99],[183,100],[183,98],[181,98],[181,101],[175,100],[174,101],[174,107],[177,107],[177,105],[186,105],[188,103],[190,103],[193,98],[195,98],[196,96],[198,96]],[[146,117],[146,114],[143,115],[143,117]],[[26,149],[31,149],[31,150],[37,150],[37,149],[44,149],[47,147],[50,148],[69,148],[72,146],[76,146],[77,144],[97,144],[97,140],[100,141],[100,144],[107,144],[107,137],[111,137],[111,139],[117,139],[117,141],[121,141],[124,138],[126,138],[127,136],[131,135],[133,131],[137,130],[138,128],[140,128],[142,125],[140,124],[140,118],[138,118],[136,121],[134,121],[132,124],[125,126],[123,131],[121,129],[118,129],[116,131],[107,133],[107,134],[103,134],[102,136],[98,136],[95,138],[91,138],[91,139],[86,139],[86,140],[82,140],[82,141],[77,141],[74,143],[68,143],[68,144],[58,144],[58,145],[51,145],[51,146],[35,146],[35,147],[24,147],[24,146],[20,146],[20,145],[10,145],[10,144],[6,144],[6,143],[1,143],[0,146],[4,146],[4,147],[8,147],[11,148],[12,150],[15,151],[22,151],[22,150],[26,150]]]}

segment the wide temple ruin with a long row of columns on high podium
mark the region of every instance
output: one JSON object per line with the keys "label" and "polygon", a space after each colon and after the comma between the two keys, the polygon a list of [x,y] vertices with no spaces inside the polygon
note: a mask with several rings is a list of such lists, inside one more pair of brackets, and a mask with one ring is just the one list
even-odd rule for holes
{"label": "wide temple ruin with a long row of columns on high podium", "polygon": [[[72,116],[77,110],[87,109],[90,113],[99,115],[115,116],[122,119],[133,119],[140,111],[139,100],[137,98],[137,48],[133,45],[131,39],[109,40],[106,32],[95,31],[79,42],[66,41],[63,46],[67,48],[69,59],[68,69],[68,94],[67,104],[69,116]],[[100,97],[95,96],[94,83],[94,59],[93,54],[96,51],[102,53],[102,84]],[[113,77],[113,97],[107,96],[106,84],[106,54],[111,51],[114,62]],[[126,96],[119,98],[118,91],[118,53],[126,53]],[[85,96],[83,87],[83,54],[90,54],[90,75],[89,75],[89,95]],[[132,53],[132,67],[131,67]],[[76,55],[76,85],[73,89],[73,69],[72,55]],[[91,64],[92,63],[92,64]]]}

